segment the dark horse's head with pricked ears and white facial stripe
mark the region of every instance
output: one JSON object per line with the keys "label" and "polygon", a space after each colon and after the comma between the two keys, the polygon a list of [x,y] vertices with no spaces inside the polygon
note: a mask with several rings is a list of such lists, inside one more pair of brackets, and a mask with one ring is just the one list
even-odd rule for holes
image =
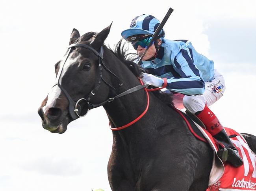
{"label": "dark horse's head with pricked ears and white facial stripe", "polygon": [[[64,133],[71,121],[87,113],[91,107],[89,101],[106,100],[109,88],[100,82],[103,44],[110,28],[111,25],[100,33],[89,32],[82,36],[73,29],[68,51],[55,64],[56,84],[38,109],[43,128],[52,133]],[[105,93],[96,93],[98,89]]]}

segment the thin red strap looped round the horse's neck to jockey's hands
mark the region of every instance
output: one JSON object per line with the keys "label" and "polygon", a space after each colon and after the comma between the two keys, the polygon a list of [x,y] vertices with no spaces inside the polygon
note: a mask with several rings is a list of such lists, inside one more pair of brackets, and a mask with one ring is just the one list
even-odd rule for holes
{"label": "thin red strap looped round the horse's neck to jockey's hands", "polygon": [[[142,85],[144,85],[143,81],[142,81],[140,78],[139,78],[139,81],[141,82]],[[111,128],[111,127],[110,127],[110,129],[111,129],[112,131],[119,131],[119,130],[121,130],[121,129],[124,129],[124,128],[126,128],[126,127],[131,126],[132,124],[135,124],[135,123],[136,123],[138,120],[140,120],[140,119],[147,113],[147,111],[148,111],[148,106],[149,106],[149,95],[148,95],[148,92],[149,92],[149,91],[157,91],[157,90],[163,89],[163,88],[166,87],[166,85],[167,85],[167,81],[166,81],[166,78],[164,78],[163,87],[158,87],[158,88],[154,88],[154,89],[147,89],[147,88],[145,87],[144,90],[145,90],[146,93],[147,93],[147,99],[148,99],[147,107],[146,107],[145,111],[144,111],[143,113],[141,113],[141,115],[138,116],[135,120],[133,120],[132,122],[126,124],[125,126],[116,127],[116,128]]]}

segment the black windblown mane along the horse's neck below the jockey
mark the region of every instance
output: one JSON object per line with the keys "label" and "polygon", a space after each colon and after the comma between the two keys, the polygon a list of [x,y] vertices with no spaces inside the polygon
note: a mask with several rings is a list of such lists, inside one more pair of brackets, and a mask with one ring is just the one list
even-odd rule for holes
{"label": "black windblown mane along the horse's neck below the jockey", "polygon": [[[126,42],[123,43],[123,40],[119,40],[119,42],[115,45],[114,49],[108,47],[108,49],[115,55],[117,58],[126,65],[130,71],[136,76],[140,77],[141,72],[145,72],[145,70],[137,65],[134,61],[137,60],[137,55],[133,53],[128,53],[128,48],[125,46]],[[147,70],[146,70],[147,73]],[[154,88],[153,86],[149,86],[148,88]],[[158,97],[164,104],[167,104],[171,107],[174,107],[173,104],[173,94],[164,93],[163,91],[153,91],[154,95]]]}

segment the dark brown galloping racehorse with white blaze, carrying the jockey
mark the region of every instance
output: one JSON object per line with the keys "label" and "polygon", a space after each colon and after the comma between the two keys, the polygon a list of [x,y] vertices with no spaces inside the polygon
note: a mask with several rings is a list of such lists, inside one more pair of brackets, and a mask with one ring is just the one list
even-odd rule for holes
{"label": "dark brown galloping racehorse with white blaze, carrying the jockey", "polygon": [[169,95],[145,91],[141,69],[121,42],[115,50],[104,45],[110,28],[82,36],[73,29],[55,65],[56,84],[38,109],[43,128],[64,133],[70,122],[103,106],[113,130],[113,191],[205,191],[213,150],[191,133]]}

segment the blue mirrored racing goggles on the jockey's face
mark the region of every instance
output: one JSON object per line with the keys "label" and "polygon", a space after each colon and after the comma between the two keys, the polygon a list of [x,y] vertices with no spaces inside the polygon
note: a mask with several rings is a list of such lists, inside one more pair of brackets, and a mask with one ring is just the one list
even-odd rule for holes
{"label": "blue mirrored racing goggles on the jockey's face", "polygon": [[151,39],[152,35],[134,35],[129,37],[127,41],[131,42],[134,49],[137,50],[139,45],[143,48],[147,48],[150,44]]}

